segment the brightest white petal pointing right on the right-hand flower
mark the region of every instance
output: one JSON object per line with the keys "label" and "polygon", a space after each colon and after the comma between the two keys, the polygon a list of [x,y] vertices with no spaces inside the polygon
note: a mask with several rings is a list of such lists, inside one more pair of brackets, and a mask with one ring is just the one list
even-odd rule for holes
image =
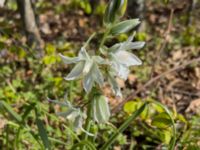
{"label": "brightest white petal pointing right on the right-hand flower", "polygon": [[126,66],[141,65],[142,61],[134,54],[127,51],[118,51],[115,53],[116,59]]}

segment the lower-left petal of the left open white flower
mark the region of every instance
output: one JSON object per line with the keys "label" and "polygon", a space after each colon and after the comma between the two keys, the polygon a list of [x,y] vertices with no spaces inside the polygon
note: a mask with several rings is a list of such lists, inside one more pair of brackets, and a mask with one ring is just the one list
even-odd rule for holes
{"label": "lower-left petal of the left open white flower", "polygon": [[73,69],[72,71],[67,75],[65,80],[75,80],[81,76],[81,73],[83,72],[84,69],[84,62],[79,62]]}

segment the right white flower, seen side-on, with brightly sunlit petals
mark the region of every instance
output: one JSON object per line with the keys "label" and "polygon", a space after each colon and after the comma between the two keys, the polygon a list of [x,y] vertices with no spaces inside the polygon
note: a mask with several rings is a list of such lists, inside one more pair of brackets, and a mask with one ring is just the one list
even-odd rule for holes
{"label": "right white flower, seen side-on, with brightly sunlit petals", "polygon": [[132,49],[140,49],[144,46],[144,42],[132,42],[133,36],[129,37],[127,41],[113,45],[110,48],[104,47],[101,49],[103,54],[107,53],[110,60],[110,70],[108,81],[116,96],[122,97],[121,90],[115,77],[120,77],[124,80],[127,79],[129,74],[129,67],[133,65],[141,65],[142,61],[129,52]]}

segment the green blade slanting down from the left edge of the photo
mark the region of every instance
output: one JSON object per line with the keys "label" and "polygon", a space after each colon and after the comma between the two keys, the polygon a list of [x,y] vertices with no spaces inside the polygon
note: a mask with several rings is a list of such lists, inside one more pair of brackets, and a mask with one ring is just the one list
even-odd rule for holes
{"label": "green blade slanting down from the left edge of the photo", "polygon": [[0,101],[0,107],[3,107],[18,123],[22,122],[22,118],[15,111],[13,111],[12,107],[4,101]]}

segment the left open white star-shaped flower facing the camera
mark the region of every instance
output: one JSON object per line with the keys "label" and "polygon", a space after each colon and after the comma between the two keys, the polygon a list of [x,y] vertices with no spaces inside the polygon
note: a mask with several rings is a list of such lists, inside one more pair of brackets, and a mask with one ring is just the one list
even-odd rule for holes
{"label": "left open white star-shaped flower facing the camera", "polygon": [[81,48],[78,57],[67,57],[60,54],[65,64],[77,63],[72,71],[65,77],[66,80],[75,80],[83,77],[83,87],[88,93],[91,91],[94,82],[103,85],[103,75],[98,64],[105,64],[105,60],[100,56],[90,57],[84,47]]}

